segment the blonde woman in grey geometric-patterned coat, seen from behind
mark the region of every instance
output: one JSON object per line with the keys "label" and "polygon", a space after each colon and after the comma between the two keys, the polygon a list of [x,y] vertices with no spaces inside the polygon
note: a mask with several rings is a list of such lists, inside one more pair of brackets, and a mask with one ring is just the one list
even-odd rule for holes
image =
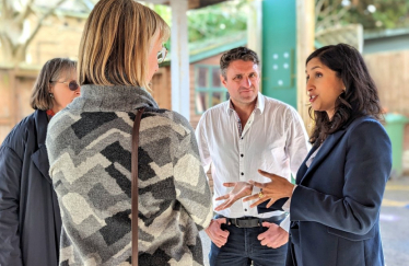
{"label": "blonde woman in grey geometric-patterned coat, seen from behind", "polygon": [[[52,119],[47,151],[60,203],[60,265],[202,265],[198,231],[212,217],[195,131],[159,108],[149,82],[170,28],[132,0],[101,0],[79,51],[81,97]],[[139,204],[131,213],[131,150],[139,130]],[[132,254],[131,217],[138,217]]]}

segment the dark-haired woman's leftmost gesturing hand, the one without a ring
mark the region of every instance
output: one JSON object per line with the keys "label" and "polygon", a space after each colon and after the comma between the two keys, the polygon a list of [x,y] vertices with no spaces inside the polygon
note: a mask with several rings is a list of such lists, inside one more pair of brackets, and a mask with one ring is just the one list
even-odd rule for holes
{"label": "dark-haired woman's leftmost gesturing hand, the one without a ring", "polygon": [[225,187],[233,187],[229,194],[218,197],[215,200],[224,200],[223,204],[219,205],[214,208],[214,210],[224,210],[230,208],[235,201],[238,199],[252,195],[253,185],[248,184],[247,182],[232,182],[232,183],[223,183]]}

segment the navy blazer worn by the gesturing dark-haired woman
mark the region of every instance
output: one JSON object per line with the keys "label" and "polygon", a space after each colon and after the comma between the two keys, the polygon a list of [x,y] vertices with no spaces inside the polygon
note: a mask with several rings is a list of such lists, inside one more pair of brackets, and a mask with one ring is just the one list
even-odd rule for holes
{"label": "navy blazer worn by the gesturing dark-haired woman", "polygon": [[287,265],[382,266],[379,209],[392,169],[390,140],[360,117],[323,142],[300,166],[291,198]]}

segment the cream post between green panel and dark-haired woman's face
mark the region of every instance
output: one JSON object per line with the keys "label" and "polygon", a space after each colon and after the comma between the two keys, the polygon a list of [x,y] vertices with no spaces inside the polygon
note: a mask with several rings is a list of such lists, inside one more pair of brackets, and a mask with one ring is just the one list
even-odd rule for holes
{"label": "cream post between green panel and dark-haired woman's face", "polygon": [[314,51],[314,0],[296,0],[296,106],[308,134],[313,129],[313,120],[308,115],[309,105],[305,88],[305,60]]}

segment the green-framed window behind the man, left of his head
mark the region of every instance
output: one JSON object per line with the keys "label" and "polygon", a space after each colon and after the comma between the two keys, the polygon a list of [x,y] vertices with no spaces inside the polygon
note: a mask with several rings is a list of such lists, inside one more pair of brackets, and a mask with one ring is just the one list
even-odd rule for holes
{"label": "green-framed window behind the man, left of his head", "polygon": [[202,114],[208,108],[229,100],[229,92],[220,81],[219,66],[197,65],[195,74],[197,114]]}

